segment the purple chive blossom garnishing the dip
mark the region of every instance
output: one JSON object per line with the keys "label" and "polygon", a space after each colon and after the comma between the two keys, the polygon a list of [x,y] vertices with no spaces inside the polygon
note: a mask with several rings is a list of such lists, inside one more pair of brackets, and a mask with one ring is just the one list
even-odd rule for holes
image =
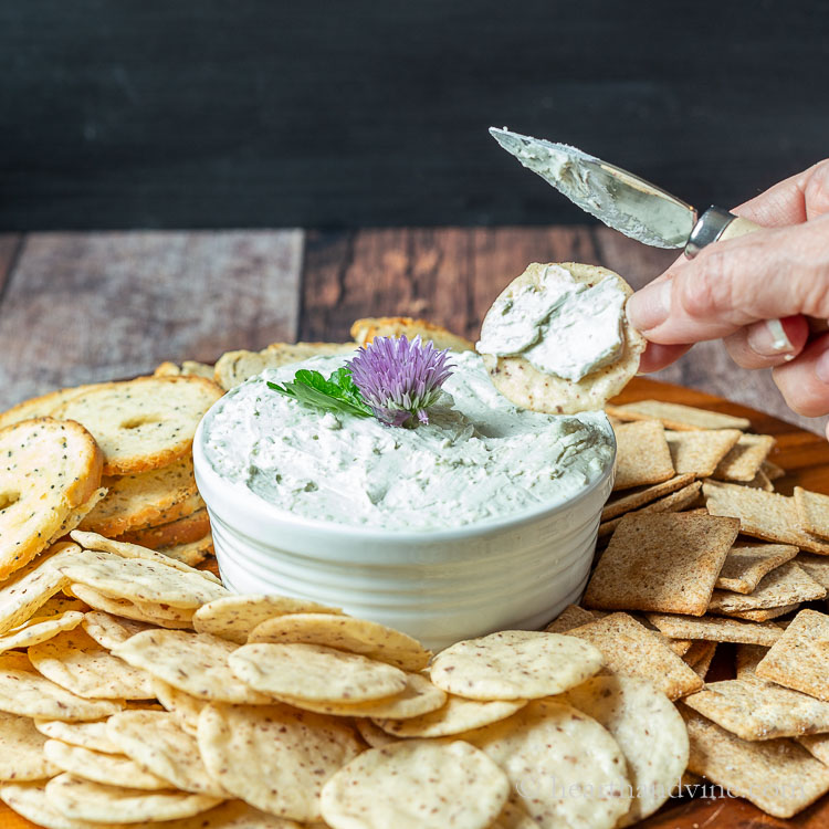
{"label": "purple chive blossom garnishing the dip", "polygon": [[351,379],[375,416],[389,426],[405,426],[412,417],[429,422],[427,409],[440,396],[440,387],[452,374],[449,349],[421,343],[420,335],[376,337],[348,363]]}

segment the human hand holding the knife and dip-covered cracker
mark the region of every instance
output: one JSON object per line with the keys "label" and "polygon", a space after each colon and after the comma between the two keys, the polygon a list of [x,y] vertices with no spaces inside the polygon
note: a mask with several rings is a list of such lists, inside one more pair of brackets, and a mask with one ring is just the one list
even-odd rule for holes
{"label": "human hand holding the knife and dip-covered cracker", "polygon": [[628,318],[650,340],[641,371],[673,363],[694,343],[723,338],[743,368],[774,368],[787,405],[829,412],[829,159],[734,212],[765,230],[680,259],[628,301]]}

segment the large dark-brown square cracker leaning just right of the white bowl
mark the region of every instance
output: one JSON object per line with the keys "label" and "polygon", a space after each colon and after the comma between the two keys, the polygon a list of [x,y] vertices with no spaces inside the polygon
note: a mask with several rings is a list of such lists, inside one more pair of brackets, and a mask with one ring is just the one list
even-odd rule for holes
{"label": "large dark-brown square cracker leaning just right of the white bowl", "polygon": [[702,616],[738,532],[736,518],[671,513],[625,516],[583,601],[588,608],[605,610]]}

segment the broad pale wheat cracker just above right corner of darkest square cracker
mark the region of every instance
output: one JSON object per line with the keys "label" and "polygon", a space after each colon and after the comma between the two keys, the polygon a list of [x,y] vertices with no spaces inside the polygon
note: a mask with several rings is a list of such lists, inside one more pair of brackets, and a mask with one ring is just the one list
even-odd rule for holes
{"label": "broad pale wheat cracker just above right corner of darkest square cracker", "polygon": [[794,499],[718,481],[706,481],[702,492],[709,512],[739,518],[739,532],[745,535],[829,555],[829,543],[800,528]]}

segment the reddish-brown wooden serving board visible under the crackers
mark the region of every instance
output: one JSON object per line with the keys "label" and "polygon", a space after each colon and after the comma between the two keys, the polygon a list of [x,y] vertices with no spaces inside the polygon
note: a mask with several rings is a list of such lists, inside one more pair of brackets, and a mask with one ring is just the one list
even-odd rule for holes
{"label": "reddish-brown wooden serving board visible under the crackers", "polygon": [[[829,443],[818,434],[804,431],[760,411],[681,386],[669,386],[637,377],[613,402],[659,399],[667,402],[699,406],[726,414],[749,418],[752,429],[773,434],[777,448],[770,460],[783,466],[786,478],[775,482],[779,492],[791,494],[798,484],[829,494]],[[211,567],[213,569],[213,567]],[[685,799],[669,802],[657,815],[639,823],[641,829],[826,829],[829,827],[829,796],[790,820],[778,820],[746,800],[735,798]],[[38,829],[0,804],[0,829]]]}

